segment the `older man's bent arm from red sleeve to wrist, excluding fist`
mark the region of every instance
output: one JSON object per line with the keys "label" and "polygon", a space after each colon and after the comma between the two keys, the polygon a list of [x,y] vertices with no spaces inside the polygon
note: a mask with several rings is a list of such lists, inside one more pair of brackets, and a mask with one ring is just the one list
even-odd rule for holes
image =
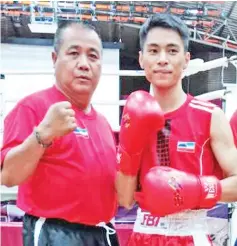
{"label": "older man's bent arm from red sleeve to wrist, excluding fist", "polygon": [[36,125],[35,111],[22,103],[6,116],[1,148],[2,185],[18,185],[36,168],[37,159],[44,152],[32,134]]}

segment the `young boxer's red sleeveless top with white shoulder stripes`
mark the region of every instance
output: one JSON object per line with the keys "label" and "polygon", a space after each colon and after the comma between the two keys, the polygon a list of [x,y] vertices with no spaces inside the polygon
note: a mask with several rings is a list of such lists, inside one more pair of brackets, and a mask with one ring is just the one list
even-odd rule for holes
{"label": "young boxer's red sleeveless top with white shoulder stripes", "polygon": [[165,114],[165,127],[151,138],[142,157],[140,183],[154,165],[170,166],[196,175],[215,175],[223,172],[210,145],[212,110],[210,102],[188,95],[177,110]]}

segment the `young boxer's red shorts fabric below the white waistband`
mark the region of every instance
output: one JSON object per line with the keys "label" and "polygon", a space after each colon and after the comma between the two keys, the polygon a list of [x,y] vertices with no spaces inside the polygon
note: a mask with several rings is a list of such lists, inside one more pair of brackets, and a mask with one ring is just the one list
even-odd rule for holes
{"label": "young boxer's red shorts fabric below the white waistband", "polygon": [[195,246],[195,244],[192,236],[149,235],[134,232],[127,246]]}

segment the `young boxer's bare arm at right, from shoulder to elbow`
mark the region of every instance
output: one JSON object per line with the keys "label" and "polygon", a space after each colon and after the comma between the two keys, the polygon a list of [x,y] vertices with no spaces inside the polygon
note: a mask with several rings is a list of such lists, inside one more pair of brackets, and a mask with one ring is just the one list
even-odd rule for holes
{"label": "young boxer's bare arm at right, from shoulder to elbow", "polygon": [[215,108],[212,114],[211,146],[226,177],[221,180],[221,201],[237,201],[237,149],[230,124],[220,108]]}

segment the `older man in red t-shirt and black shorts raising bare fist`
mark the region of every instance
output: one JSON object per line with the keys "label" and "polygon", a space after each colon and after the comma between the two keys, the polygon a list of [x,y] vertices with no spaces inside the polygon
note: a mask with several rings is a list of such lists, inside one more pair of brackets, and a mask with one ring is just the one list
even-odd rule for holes
{"label": "older man in red t-shirt and black shorts raising bare fist", "polygon": [[101,39],[88,25],[65,22],[52,60],[55,85],[23,98],[5,119],[2,184],[19,185],[25,246],[116,246],[116,146],[90,105]]}

